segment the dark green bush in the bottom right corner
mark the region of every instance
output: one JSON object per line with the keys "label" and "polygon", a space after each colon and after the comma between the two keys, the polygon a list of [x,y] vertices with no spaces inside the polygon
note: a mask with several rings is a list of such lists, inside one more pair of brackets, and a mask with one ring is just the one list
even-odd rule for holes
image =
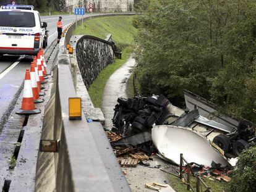
{"label": "dark green bush in the bottom right corner", "polygon": [[229,191],[256,191],[256,147],[243,151],[229,183]]}

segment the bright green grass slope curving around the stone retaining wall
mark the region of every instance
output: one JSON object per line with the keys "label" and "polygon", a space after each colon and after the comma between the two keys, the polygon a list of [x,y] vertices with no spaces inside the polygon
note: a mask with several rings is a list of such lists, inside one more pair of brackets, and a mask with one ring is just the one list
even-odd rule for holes
{"label": "bright green grass slope curving around the stone retaining wall", "polygon": [[137,29],[132,25],[134,16],[99,17],[87,20],[74,31],[75,35],[92,35],[105,39],[106,35],[112,34],[114,42],[123,48],[122,59],[116,59],[114,64],[103,69],[93,81],[88,92],[95,107],[101,107],[104,88],[109,77],[124,64],[130,57],[131,46]]}

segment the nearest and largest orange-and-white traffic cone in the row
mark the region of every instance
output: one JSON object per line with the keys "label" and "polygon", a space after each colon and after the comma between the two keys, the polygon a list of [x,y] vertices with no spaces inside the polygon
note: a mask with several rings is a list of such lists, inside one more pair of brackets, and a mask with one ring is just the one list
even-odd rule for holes
{"label": "nearest and largest orange-and-white traffic cone in the row", "polygon": [[27,69],[24,81],[24,88],[23,88],[23,100],[22,100],[22,107],[16,114],[20,115],[33,115],[39,114],[41,112],[40,109],[36,109],[34,99],[33,99],[33,91],[32,91],[32,84],[30,79],[30,72]]}

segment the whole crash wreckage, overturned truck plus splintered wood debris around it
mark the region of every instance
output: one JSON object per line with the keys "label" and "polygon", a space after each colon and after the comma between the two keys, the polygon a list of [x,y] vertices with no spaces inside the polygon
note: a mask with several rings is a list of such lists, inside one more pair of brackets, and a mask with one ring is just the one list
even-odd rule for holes
{"label": "whole crash wreckage, overturned truck plus splintered wood debris around it", "polygon": [[[189,98],[188,95],[185,93],[188,107],[185,110],[170,104],[163,95],[117,99],[112,119],[114,127],[106,134],[121,167],[139,164],[160,169],[161,165],[148,163],[153,161],[151,154],[158,152],[162,159],[176,165],[181,162],[180,154],[184,154],[187,165],[181,165],[181,172],[160,170],[176,177],[193,175],[202,183],[202,178],[207,177],[231,180],[229,167],[236,165],[236,156],[255,141],[255,130],[249,129],[254,125],[246,120],[217,117],[211,113],[216,111],[213,107],[207,108],[207,104],[202,105],[197,97]],[[207,114],[203,114],[202,109]],[[223,118],[228,122],[223,123]],[[186,183],[186,178],[182,180]],[[147,183],[145,187],[174,191],[166,184]]]}

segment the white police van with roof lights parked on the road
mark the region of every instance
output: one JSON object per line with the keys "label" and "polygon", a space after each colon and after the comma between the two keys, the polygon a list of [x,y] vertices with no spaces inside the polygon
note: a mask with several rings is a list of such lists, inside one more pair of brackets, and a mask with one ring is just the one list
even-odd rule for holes
{"label": "white police van with roof lights parked on the road", "polygon": [[0,55],[36,55],[47,46],[47,23],[41,22],[33,6],[0,8]]}

